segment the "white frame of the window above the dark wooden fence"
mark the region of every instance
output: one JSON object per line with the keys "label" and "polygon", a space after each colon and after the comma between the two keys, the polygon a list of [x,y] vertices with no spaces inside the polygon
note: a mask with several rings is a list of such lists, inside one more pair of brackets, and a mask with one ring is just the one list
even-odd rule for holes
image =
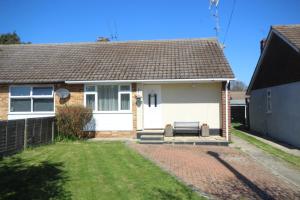
{"label": "white frame of the window above the dark wooden fence", "polygon": [[[11,88],[14,88],[14,87],[29,87],[30,95],[29,96],[12,96]],[[51,95],[33,95],[34,87],[51,87],[52,93],[51,93]],[[53,111],[33,111],[33,99],[50,99],[50,98],[53,98]],[[9,99],[8,114],[54,114],[55,113],[54,85],[10,85],[8,99]],[[30,101],[31,101],[30,111],[17,111],[17,112],[11,111],[11,109],[10,109],[11,99],[30,99]]]}

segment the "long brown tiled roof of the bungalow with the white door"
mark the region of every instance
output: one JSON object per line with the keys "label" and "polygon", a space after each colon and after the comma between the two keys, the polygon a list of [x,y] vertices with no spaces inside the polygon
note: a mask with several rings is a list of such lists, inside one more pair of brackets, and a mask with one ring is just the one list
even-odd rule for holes
{"label": "long brown tiled roof of the bungalow with the white door", "polygon": [[0,83],[234,78],[215,39],[0,45]]}

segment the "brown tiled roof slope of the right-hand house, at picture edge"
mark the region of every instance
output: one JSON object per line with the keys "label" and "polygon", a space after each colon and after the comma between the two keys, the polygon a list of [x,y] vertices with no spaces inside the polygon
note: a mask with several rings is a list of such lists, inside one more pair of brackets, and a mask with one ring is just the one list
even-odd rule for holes
{"label": "brown tiled roof slope of the right-hand house, at picture edge", "polygon": [[300,24],[279,25],[272,28],[300,50]]}

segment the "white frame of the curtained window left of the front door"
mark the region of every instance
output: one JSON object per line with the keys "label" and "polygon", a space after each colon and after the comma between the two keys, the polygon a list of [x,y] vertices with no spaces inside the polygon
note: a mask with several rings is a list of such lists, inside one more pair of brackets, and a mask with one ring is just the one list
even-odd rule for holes
{"label": "white frame of the curtained window left of the front door", "polygon": [[[98,110],[98,86],[101,85],[118,85],[118,110],[117,111],[99,111]],[[121,91],[121,86],[129,86],[129,91]],[[87,86],[95,86],[95,91],[87,91]],[[132,87],[130,83],[124,84],[85,84],[84,85],[84,106],[86,107],[86,95],[95,95],[95,110],[93,113],[132,113]],[[129,110],[121,110],[121,94],[129,94]]]}

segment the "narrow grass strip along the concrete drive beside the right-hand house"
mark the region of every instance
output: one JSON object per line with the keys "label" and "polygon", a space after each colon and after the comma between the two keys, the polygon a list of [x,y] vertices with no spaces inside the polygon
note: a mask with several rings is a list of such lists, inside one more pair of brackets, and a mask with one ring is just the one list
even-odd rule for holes
{"label": "narrow grass strip along the concrete drive beside the right-hand house", "polygon": [[265,152],[267,152],[277,158],[280,158],[300,169],[300,157],[299,156],[289,154],[285,151],[282,151],[281,149],[278,149],[276,147],[273,147],[272,145],[262,142],[261,140],[258,140],[255,137],[252,137],[243,131],[237,130],[236,126],[238,126],[238,125],[233,125],[233,128],[231,130],[231,132],[234,135],[238,136],[239,138],[241,138],[243,140],[246,140],[250,144],[253,144],[256,147],[264,150]]}

